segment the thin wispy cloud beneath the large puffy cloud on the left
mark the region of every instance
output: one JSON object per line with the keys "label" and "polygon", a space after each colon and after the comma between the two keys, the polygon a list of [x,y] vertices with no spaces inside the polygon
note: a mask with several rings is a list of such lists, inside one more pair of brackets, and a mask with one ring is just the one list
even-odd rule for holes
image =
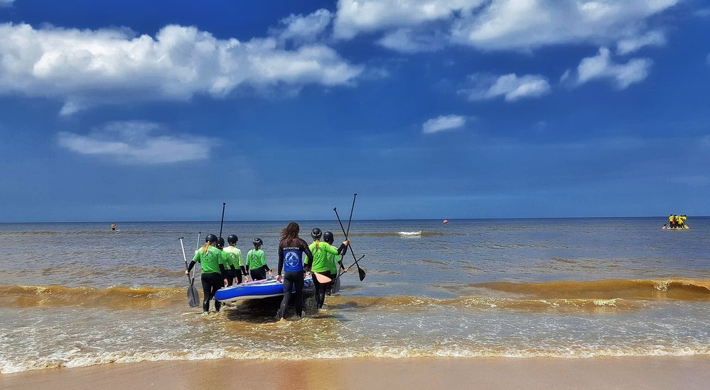
{"label": "thin wispy cloud beneath the large puffy cloud on the left", "polygon": [[87,135],[63,132],[58,143],[81,155],[105,157],[122,164],[156,165],[203,160],[213,141],[193,135],[159,135],[158,123],[126,121],[108,123]]}

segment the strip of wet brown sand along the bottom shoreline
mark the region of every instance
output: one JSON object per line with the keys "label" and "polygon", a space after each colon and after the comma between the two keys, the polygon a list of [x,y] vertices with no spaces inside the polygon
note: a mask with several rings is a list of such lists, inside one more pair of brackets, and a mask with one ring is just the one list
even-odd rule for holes
{"label": "strip of wet brown sand along the bottom shoreline", "polygon": [[710,357],[140,362],[0,375],[0,388],[708,389]]}

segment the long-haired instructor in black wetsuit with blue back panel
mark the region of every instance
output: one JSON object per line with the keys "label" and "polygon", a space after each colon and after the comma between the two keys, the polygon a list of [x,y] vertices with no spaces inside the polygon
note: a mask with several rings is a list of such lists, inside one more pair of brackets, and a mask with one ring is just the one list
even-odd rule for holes
{"label": "long-haired instructor in black wetsuit with blue back panel", "polygon": [[296,289],[294,299],[296,299],[296,316],[303,317],[303,277],[306,269],[303,268],[303,253],[308,256],[308,263],[313,264],[313,253],[308,248],[306,241],[298,238],[301,228],[298,223],[291,222],[286,228],[281,230],[281,240],[279,241],[279,276],[276,280],[281,282],[281,271],[284,271],[284,299],[281,300],[281,307],[276,318],[283,319],[286,315],[286,308],[289,307],[291,291]]}

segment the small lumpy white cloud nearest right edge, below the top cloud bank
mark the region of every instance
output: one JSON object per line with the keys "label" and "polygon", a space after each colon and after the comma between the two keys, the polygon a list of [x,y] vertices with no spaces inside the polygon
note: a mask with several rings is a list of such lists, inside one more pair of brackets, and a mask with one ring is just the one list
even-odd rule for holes
{"label": "small lumpy white cloud nearest right edge, below the top cloud bank", "polygon": [[645,79],[653,61],[648,58],[635,58],[625,64],[616,64],[611,60],[607,48],[600,48],[598,55],[587,57],[577,67],[577,84],[584,84],[594,79],[611,79],[618,89],[625,89],[631,84]]}

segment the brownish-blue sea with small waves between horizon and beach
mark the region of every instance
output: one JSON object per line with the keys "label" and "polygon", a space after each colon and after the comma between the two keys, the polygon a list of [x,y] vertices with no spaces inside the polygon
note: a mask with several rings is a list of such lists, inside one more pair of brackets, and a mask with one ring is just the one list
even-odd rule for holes
{"label": "brownish-blue sea with small waves between horizon and beach", "polygon": [[[299,221],[343,236],[337,221]],[[353,221],[363,282],[306,316],[189,308],[219,223],[0,224],[0,373],[145,360],[710,355],[710,218]],[[225,222],[275,268],[284,222]],[[188,258],[188,261],[190,259]],[[352,263],[351,255],[345,264]],[[199,280],[199,276],[198,279]],[[201,289],[200,289],[201,294]],[[292,316],[293,311],[289,312]]]}

